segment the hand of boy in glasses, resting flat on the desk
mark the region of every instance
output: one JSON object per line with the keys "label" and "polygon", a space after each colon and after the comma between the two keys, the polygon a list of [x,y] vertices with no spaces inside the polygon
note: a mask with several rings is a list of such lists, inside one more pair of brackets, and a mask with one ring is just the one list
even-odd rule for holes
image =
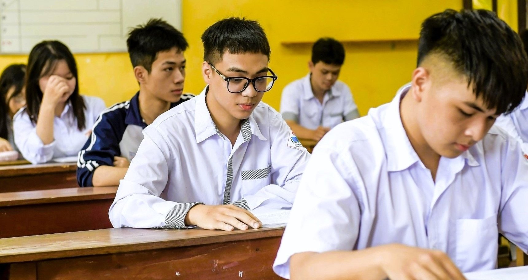
{"label": "hand of boy in glasses, resting flat on the desk", "polygon": [[196,225],[203,229],[246,230],[259,228],[260,220],[250,211],[240,207],[228,205],[195,205],[185,216],[186,225]]}

